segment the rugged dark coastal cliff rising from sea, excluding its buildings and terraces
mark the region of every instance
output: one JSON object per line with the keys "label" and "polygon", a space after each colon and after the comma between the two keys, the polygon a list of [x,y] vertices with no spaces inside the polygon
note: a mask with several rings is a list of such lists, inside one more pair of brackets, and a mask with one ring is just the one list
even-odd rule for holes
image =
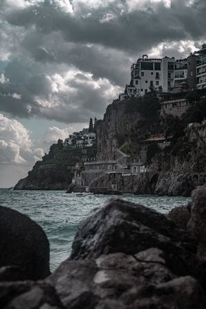
{"label": "rugged dark coastal cliff rising from sea, excluding its buildings and terraces", "polygon": [[[123,150],[132,159],[144,161],[148,172],[105,173],[93,181],[91,191],[106,193],[108,189],[110,192],[115,184],[120,192],[190,196],[196,186],[203,185],[206,181],[206,124],[187,126],[187,119],[172,116],[163,119],[158,113],[148,124],[142,113],[137,113],[139,106],[136,105],[135,111],[135,102],[133,110],[126,108],[126,104],[130,102],[122,102],[119,112],[116,111],[115,104],[111,104],[104,115],[104,121],[98,124],[98,156],[105,158],[106,154],[109,157],[115,148],[123,144]],[[116,125],[119,119],[126,127]],[[111,128],[113,139],[108,140]],[[158,144],[148,139],[150,144],[146,146],[141,142],[147,141],[148,136],[155,135],[168,136],[169,142]],[[122,137],[121,142],[118,137]],[[146,150],[143,152],[142,149]]]}

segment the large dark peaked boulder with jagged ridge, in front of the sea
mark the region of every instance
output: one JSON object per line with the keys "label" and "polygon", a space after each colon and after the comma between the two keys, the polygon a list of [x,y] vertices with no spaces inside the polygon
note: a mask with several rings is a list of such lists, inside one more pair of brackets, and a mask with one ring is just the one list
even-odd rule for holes
{"label": "large dark peaked boulder with jagged ridge, in front of the sea", "polygon": [[119,199],[82,220],[73,241],[71,259],[94,259],[102,254],[139,251],[157,247],[167,253],[177,275],[198,276],[196,238],[178,229],[157,211]]}

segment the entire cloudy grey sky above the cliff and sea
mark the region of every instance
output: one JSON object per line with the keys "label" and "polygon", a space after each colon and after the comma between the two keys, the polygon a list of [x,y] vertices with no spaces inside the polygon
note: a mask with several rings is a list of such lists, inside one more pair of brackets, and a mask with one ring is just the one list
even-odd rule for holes
{"label": "entire cloudy grey sky above the cliff and sea", "polygon": [[0,0],[0,187],[102,119],[142,54],[206,43],[205,0]]}

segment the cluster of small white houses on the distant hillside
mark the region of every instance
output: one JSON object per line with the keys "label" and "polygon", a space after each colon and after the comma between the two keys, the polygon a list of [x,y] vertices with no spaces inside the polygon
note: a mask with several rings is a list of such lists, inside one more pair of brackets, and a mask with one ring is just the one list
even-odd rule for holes
{"label": "cluster of small white houses on the distant hillside", "polygon": [[96,135],[89,132],[89,128],[83,128],[80,132],[73,132],[64,141],[65,147],[85,148],[92,147],[96,143]]}

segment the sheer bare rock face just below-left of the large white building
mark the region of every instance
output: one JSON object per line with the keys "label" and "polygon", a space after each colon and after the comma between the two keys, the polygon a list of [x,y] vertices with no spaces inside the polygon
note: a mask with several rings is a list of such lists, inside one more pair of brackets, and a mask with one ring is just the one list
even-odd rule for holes
{"label": "sheer bare rock face just below-left of the large white building", "polygon": [[122,147],[131,137],[148,134],[146,123],[135,99],[114,101],[108,105],[104,120],[97,124],[98,159],[113,159],[115,148]]}

